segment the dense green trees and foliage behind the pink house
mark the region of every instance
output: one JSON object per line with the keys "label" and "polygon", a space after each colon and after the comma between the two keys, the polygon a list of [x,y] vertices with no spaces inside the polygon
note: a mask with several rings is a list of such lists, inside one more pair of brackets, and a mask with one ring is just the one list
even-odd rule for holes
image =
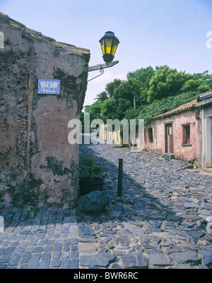
{"label": "dense green trees and foliage behind the pink house", "polygon": [[90,121],[143,118],[148,124],[153,116],[175,109],[211,89],[212,74],[208,71],[187,74],[167,65],[155,70],[149,66],[129,72],[126,80],[114,79],[84,111],[90,113]]}

